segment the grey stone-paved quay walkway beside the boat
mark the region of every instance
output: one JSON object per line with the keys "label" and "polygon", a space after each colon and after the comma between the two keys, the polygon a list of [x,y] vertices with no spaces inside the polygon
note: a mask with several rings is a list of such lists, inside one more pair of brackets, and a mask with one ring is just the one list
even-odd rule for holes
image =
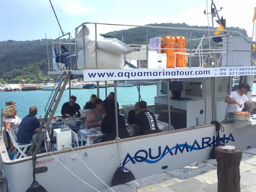
{"label": "grey stone-paved quay walkway beside the boat", "polygon": [[[243,151],[240,163],[241,192],[256,191],[256,148]],[[217,192],[217,162],[207,160],[194,167],[154,174],[112,187],[116,192]],[[102,192],[110,192],[104,189]]]}

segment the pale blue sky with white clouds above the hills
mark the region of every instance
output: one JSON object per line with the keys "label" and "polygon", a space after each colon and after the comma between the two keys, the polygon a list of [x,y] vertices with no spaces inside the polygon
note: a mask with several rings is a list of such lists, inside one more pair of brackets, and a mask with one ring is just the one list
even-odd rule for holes
{"label": "pale blue sky with white clouds above the hills", "polygon": [[[74,36],[75,27],[83,22],[146,25],[149,23],[183,23],[207,26],[207,0],[51,0],[62,30]],[[255,0],[214,0],[226,26],[246,29],[252,36]],[[210,12],[211,0],[208,0]],[[210,15],[209,15],[210,16]],[[211,17],[209,17],[211,19]],[[214,18],[217,20],[217,17]],[[209,20],[210,25],[211,21]],[[214,22],[216,27],[218,24]],[[58,38],[60,28],[49,0],[0,0],[0,41]],[[88,26],[90,28],[90,26]],[[94,27],[94,26],[91,26]],[[98,33],[128,29],[100,25]],[[255,34],[255,30],[254,30]],[[255,37],[255,35],[254,35]]]}

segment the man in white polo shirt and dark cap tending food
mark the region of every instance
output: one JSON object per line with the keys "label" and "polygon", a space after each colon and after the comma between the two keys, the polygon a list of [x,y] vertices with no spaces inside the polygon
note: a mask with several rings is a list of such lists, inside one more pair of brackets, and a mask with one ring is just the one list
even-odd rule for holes
{"label": "man in white polo shirt and dark cap tending food", "polygon": [[225,98],[225,102],[227,102],[226,114],[242,111],[244,104],[251,107],[252,102],[248,100],[246,95],[249,91],[252,90],[248,83],[240,84],[237,91],[231,91]]}

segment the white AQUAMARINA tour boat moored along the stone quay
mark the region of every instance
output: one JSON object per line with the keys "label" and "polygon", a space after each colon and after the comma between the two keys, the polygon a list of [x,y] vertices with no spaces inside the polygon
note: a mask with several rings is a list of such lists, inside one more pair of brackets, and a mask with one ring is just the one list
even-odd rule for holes
{"label": "white AQUAMARINA tour boat moored along the stone quay", "polygon": [[[82,23],[75,28],[77,45],[83,44],[81,40],[83,42],[84,37],[81,36],[81,34],[84,34],[84,29],[88,30],[86,25],[90,24],[95,27],[101,24],[117,25],[112,23]],[[159,26],[133,27],[143,27],[146,29],[145,31],[148,31],[149,28],[164,29],[166,31],[177,29]],[[82,32],[81,30],[78,32],[79,29],[81,29]],[[181,30],[199,31],[202,32],[202,34],[207,34],[206,32],[208,31],[216,31],[192,28],[181,28]],[[218,30],[216,32],[218,32]],[[230,33],[232,33],[233,36],[229,36]],[[234,36],[234,34],[237,36]],[[60,40],[60,38],[63,38],[63,36],[57,39]],[[118,139],[119,136],[117,132],[117,139],[114,141],[101,143],[88,142],[89,144],[87,145],[76,147],[69,147],[70,144],[72,145],[69,141],[71,141],[71,134],[73,141],[77,141],[77,135],[71,133],[69,129],[67,129],[66,132],[60,131],[60,134],[63,135],[66,135],[67,131],[70,131],[70,134],[67,134],[69,140],[66,136],[62,137],[61,135],[56,135],[55,139],[65,144],[58,146],[56,148],[57,150],[51,153],[37,154],[38,150],[33,151],[32,146],[40,147],[41,143],[34,141],[30,150],[32,154],[36,154],[35,167],[32,166],[32,157],[30,155],[11,160],[7,153],[8,150],[6,149],[4,139],[0,138],[0,154],[9,190],[12,192],[26,191],[33,180],[32,173],[36,173],[36,180],[48,192],[56,190],[62,192],[74,190],[94,191],[95,189],[101,191],[111,187],[113,183],[112,178],[118,166],[121,166],[122,170],[125,171],[124,173],[132,173],[134,178],[139,179],[151,174],[164,173],[168,170],[191,165],[193,162],[206,161],[210,157],[213,146],[217,143],[217,124],[212,124],[212,120],[221,122],[221,126],[224,128],[223,132],[220,132],[221,143],[234,145],[241,149],[255,147],[255,115],[243,121],[225,119],[226,103],[224,102],[225,97],[232,90],[234,75],[240,76],[241,82],[246,82],[250,84],[251,87],[253,86],[256,68],[251,66],[252,42],[250,38],[243,36],[240,32],[226,30],[222,35],[224,42],[222,49],[212,49],[211,46],[201,49],[200,44],[203,41],[208,42],[209,38],[212,39],[215,37],[203,36],[198,49],[185,48],[182,52],[177,51],[175,53],[184,54],[186,58],[188,56],[199,56],[196,64],[200,64],[200,67],[197,65],[192,66],[191,62],[188,63],[187,67],[175,67],[174,61],[175,68],[115,69],[111,77],[97,75],[109,73],[109,69],[96,69],[97,72],[95,72],[95,69],[48,72],[51,78],[60,76],[62,79],[60,82],[63,81],[64,84],[67,84],[67,79],[69,79],[71,75],[80,75],[84,77],[84,81],[87,82],[113,80],[115,96],[118,95],[117,80],[123,80],[123,83],[139,85],[157,83],[155,105],[150,106],[150,110],[159,114],[158,120],[161,119],[161,122],[168,122],[168,128],[167,130],[163,128],[159,133],[132,136],[121,140]],[[190,36],[190,42],[193,40],[194,39]],[[146,41],[148,42],[148,39]],[[198,39],[195,39],[195,41],[198,42]],[[225,42],[227,45],[229,41],[239,43],[234,43],[237,47],[225,47]],[[240,46],[242,45],[246,48],[243,47],[243,49],[241,49]],[[91,47],[94,47],[97,53],[97,46]],[[146,47],[149,49],[148,45]],[[78,46],[78,48],[81,47]],[[136,46],[133,48],[136,49]],[[83,47],[81,50],[85,52],[85,49],[86,48]],[[131,55],[130,58],[133,58],[131,60],[139,60],[141,58],[137,57],[139,54],[140,53],[136,53],[136,57]],[[204,58],[209,58],[209,54],[216,54],[218,56],[216,56],[216,58],[219,60],[214,58],[213,61],[209,63],[205,60],[206,64],[202,65]],[[146,60],[148,60],[148,58],[146,58]],[[187,58],[187,61],[189,60],[191,60],[191,57]],[[85,61],[83,62],[85,63]],[[151,62],[155,62],[155,66],[158,64],[157,60]],[[126,75],[120,77],[118,73]],[[98,88],[99,87],[97,87],[97,96],[100,98]],[[140,88],[138,88],[138,90],[140,96]],[[58,96],[57,92],[60,93]],[[52,91],[51,96],[53,95],[53,97],[49,98],[45,107],[45,118],[42,119],[42,125],[45,125],[45,129],[49,128],[49,121],[53,118],[63,92],[64,90],[60,89],[60,87],[58,87],[56,91]],[[251,99],[250,92],[248,93],[248,97]],[[47,108],[48,105],[49,107]],[[53,110],[50,106],[53,107]],[[120,110],[120,112],[123,111]],[[79,122],[81,123],[80,119]],[[62,122],[60,122],[60,126],[61,125]],[[172,126],[175,130],[171,129]],[[62,128],[64,129],[65,127]],[[88,135],[95,136],[95,132],[97,131],[100,130],[89,130]],[[42,129],[42,134],[43,132],[46,131]],[[41,132],[39,132],[38,135],[42,136],[40,134]],[[49,139],[47,135],[48,134],[45,134],[44,136],[45,146],[48,149]],[[84,139],[86,140],[86,138]],[[54,142],[54,140],[52,141]],[[24,177],[24,175],[26,175],[26,177]],[[127,182],[127,178],[122,179],[124,183]],[[131,179],[133,178],[129,180]]]}

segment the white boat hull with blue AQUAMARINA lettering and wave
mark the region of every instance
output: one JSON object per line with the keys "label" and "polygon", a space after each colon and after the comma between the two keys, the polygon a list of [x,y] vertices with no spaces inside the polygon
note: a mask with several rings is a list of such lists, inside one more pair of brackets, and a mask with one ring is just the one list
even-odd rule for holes
{"label": "white boat hull with blue AQUAMARINA lettering and wave", "polygon": [[[234,145],[242,149],[256,146],[255,126],[235,128],[235,123],[228,123],[223,126],[225,135],[221,132],[220,137],[226,145]],[[202,162],[209,159],[213,141],[216,142],[215,137],[215,126],[208,125],[202,128],[188,128],[185,131],[176,130],[169,133],[154,134],[154,136],[147,135],[139,139],[126,139],[126,141],[122,141],[123,165],[130,169],[136,179],[139,179],[147,175],[190,165],[193,162]],[[0,143],[2,156],[3,150],[6,151],[6,149],[2,147],[3,140]],[[110,186],[112,176],[119,166],[117,148],[112,141],[109,141],[108,143],[92,144],[74,149],[88,167]],[[101,191],[106,188],[78,157],[74,158],[73,151],[53,153],[58,160],[62,160],[69,170],[97,190]],[[46,166],[48,170],[45,173],[36,174],[36,180],[48,192],[56,190],[61,192],[94,191],[70,174],[57,159],[51,155],[44,155],[38,155],[36,167]],[[4,159],[3,156],[2,159]],[[3,161],[10,191],[26,191],[33,180],[32,161]]]}

